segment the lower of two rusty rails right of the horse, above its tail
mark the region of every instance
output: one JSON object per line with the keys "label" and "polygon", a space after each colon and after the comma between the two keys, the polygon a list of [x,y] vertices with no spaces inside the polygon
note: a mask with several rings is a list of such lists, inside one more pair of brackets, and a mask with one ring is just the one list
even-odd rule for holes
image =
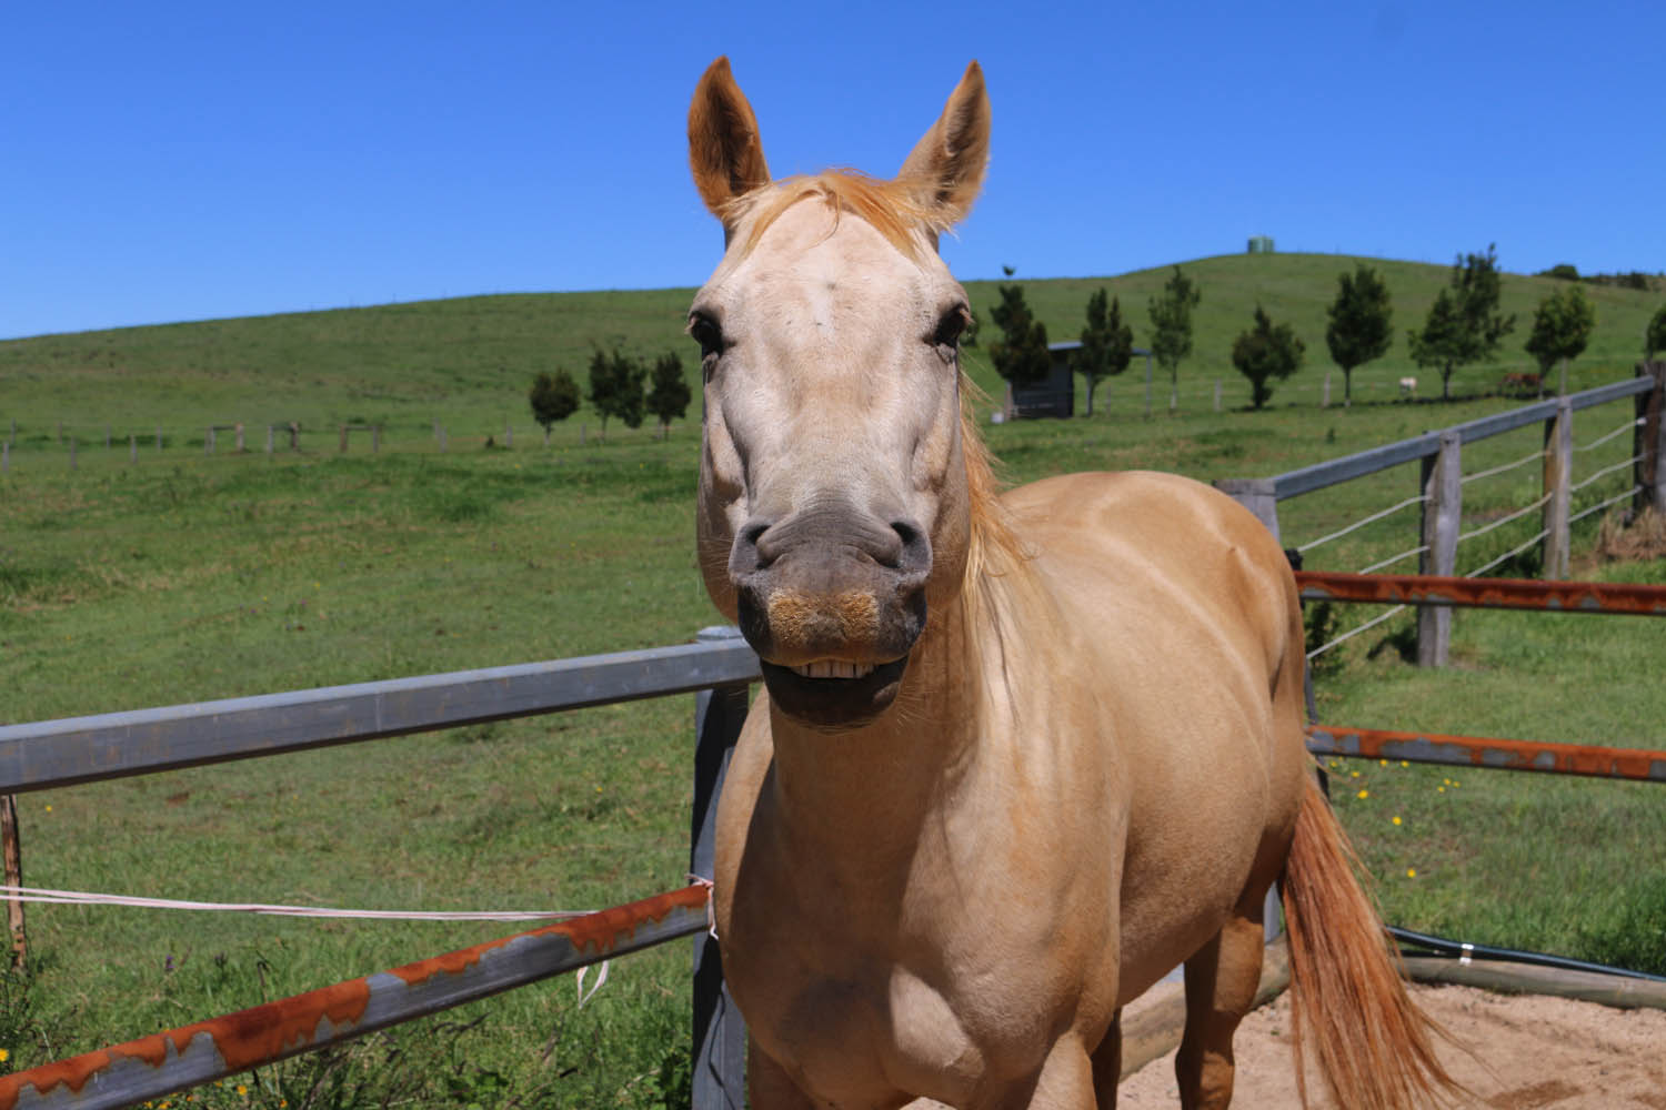
{"label": "lower of two rusty rails right of the horse, above its tail", "polygon": [[1394,732],[1318,724],[1308,727],[1308,751],[1314,756],[1404,759],[1413,764],[1666,782],[1666,752],[1636,747],[1546,744],[1486,736]]}

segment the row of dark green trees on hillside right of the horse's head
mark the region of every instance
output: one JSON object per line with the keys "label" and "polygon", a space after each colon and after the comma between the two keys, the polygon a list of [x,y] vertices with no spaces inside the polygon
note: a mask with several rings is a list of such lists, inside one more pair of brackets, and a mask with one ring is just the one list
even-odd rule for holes
{"label": "row of dark green trees on hillside right of the horse's head", "polygon": [[[1006,268],[1011,276],[1011,268]],[[1406,341],[1418,366],[1438,369],[1441,398],[1451,396],[1451,376],[1461,366],[1493,358],[1516,318],[1498,310],[1499,271],[1494,246],[1486,253],[1463,255],[1453,263],[1451,280],[1443,288],[1421,328],[1409,330]],[[1015,384],[1046,378],[1046,326],[1035,320],[1018,285],[1000,286],[1001,303],[991,318],[1001,338],[988,344],[996,373]],[[1180,391],[1180,363],[1191,354],[1191,313],[1203,300],[1198,285],[1175,266],[1161,295],[1148,303],[1151,318],[1151,358],[1170,374],[1170,408]],[[1371,266],[1338,275],[1336,300],[1326,310],[1329,323],[1324,341],[1331,361],[1343,371],[1343,403],[1353,403],[1353,371],[1388,353],[1393,344],[1394,310],[1383,281]],[[1105,378],[1120,374],[1133,358],[1133,328],[1123,320],[1121,305],[1106,298],[1101,288],[1088,300],[1086,326],[1071,368],[1086,379],[1088,414],[1093,393]],[[1563,391],[1568,363],[1584,351],[1596,328],[1596,310],[1578,285],[1563,286],[1539,301],[1533,316],[1533,333],[1526,351],[1539,363],[1541,381],[1558,364],[1563,368]],[[1666,349],[1666,306],[1649,323],[1644,354]],[[1274,323],[1258,305],[1253,325],[1233,341],[1233,366],[1250,379],[1251,403],[1261,408],[1273,396],[1271,381],[1289,378],[1301,366],[1306,344],[1288,323]]]}

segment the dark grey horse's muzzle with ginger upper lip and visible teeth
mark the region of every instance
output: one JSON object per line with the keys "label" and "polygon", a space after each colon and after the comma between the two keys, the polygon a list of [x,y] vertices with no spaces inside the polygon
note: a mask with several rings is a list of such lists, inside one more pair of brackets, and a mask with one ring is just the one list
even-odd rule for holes
{"label": "dark grey horse's muzzle with ginger upper lip and visible teeth", "polygon": [[748,521],[730,551],[730,579],[771,702],[828,731],[885,712],[925,631],[930,571],[923,529],[840,501]]}

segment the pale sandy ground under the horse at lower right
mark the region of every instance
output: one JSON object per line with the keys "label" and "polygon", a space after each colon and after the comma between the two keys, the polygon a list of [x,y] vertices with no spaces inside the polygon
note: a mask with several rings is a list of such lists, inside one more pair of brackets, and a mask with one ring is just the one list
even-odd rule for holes
{"label": "pale sandy ground under the horse at lower right", "polygon": [[[1494,1110],[1666,1110],[1666,1012],[1618,1010],[1546,995],[1471,987],[1413,987],[1429,1017],[1473,1048],[1444,1047],[1448,1070]],[[1238,1028],[1233,1107],[1298,1107],[1289,1058],[1289,1000],[1250,1013]],[[1311,1110],[1333,1110],[1309,1077]],[[1175,1053],[1123,1080],[1116,1105],[1178,1107]]]}

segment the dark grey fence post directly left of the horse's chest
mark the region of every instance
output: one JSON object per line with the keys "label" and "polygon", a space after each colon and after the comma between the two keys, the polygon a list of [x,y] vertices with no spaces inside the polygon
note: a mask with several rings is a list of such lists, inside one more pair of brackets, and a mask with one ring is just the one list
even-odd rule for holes
{"label": "dark grey fence post directly left of the horse's chest", "polygon": [[[698,641],[733,641],[733,627],[701,629]],[[688,872],[711,879],[716,855],[718,797],[740,726],[746,721],[745,686],[695,696],[695,805]],[[723,957],[710,934],[695,937],[693,1110],[740,1110],[746,1105],[746,1023],[723,984]]]}

